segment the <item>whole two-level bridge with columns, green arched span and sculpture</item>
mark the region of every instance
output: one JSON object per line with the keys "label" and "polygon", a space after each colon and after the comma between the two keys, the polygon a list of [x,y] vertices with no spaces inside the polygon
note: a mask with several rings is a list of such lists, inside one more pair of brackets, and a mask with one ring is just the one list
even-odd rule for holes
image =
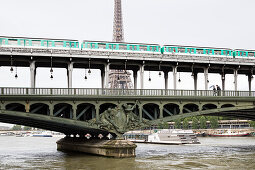
{"label": "whole two-level bridge with columns, green arched span and sculpture", "polygon": [[[67,136],[91,134],[93,138],[105,139],[109,133],[121,138],[129,130],[190,116],[255,120],[255,92],[251,88],[254,65],[254,58],[198,53],[1,46],[0,66],[9,66],[11,70],[30,67],[30,87],[0,87],[0,121],[58,131]],[[66,68],[68,88],[36,88],[38,67],[50,68],[52,78],[54,68]],[[76,68],[100,69],[101,88],[72,88]],[[132,71],[134,89],[108,89],[110,69]],[[163,73],[165,88],[144,89],[145,71]],[[173,89],[168,88],[171,72]],[[194,90],[177,90],[180,72],[191,73]],[[199,73],[204,74],[204,90],[197,88]],[[210,73],[221,75],[222,91],[208,90]],[[226,74],[234,76],[233,91],[225,88]],[[237,89],[240,74],[247,76],[247,91]],[[68,142],[59,146],[68,149],[74,141]],[[135,146],[132,147],[131,155],[134,155]]]}

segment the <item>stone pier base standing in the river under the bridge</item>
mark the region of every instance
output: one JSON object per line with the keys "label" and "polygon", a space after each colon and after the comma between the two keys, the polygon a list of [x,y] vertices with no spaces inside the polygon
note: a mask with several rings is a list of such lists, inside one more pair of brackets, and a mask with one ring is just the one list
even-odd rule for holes
{"label": "stone pier base standing in the river under the bridge", "polygon": [[62,138],[57,141],[57,149],[75,151],[106,157],[135,157],[136,145],[127,140],[87,140],[80,138]]}

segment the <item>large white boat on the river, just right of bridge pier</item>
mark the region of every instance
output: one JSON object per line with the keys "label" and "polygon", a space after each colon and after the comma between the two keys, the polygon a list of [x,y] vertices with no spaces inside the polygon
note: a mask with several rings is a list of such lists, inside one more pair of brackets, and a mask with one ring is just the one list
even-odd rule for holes
{"label": "large white boat on the river, just right of bridge pier", "polygon": [[198,144],[200,143],[192,130],[161,129],[154,131],[131,131],[124,134],[126,140],[134,143],[154,144]]}

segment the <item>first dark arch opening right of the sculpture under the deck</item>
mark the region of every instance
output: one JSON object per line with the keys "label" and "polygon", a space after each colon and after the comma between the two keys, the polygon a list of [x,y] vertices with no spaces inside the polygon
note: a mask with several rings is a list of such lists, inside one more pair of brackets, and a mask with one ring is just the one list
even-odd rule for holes
{"label": "first dark arch opening right of the sculpture under the deck", "polygon": [[155,103],[147,103],[143,105],[143,118],[153,120],[159,118],[159,105]]}

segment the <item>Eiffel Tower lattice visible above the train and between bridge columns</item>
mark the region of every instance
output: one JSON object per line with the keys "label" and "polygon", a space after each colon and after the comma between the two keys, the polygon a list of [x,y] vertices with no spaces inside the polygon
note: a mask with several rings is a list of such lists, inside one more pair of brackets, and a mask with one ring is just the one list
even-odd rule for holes
{"label": "Eiffel Tower lattice visible above the train and between bridge columns", "polygon": [[[114,0],[113,41],[124,41],[121,0]],[[126,70],[110,70],[110,88],[132,89],[133,84],[131,82],[130,75],[131,73]]]}

